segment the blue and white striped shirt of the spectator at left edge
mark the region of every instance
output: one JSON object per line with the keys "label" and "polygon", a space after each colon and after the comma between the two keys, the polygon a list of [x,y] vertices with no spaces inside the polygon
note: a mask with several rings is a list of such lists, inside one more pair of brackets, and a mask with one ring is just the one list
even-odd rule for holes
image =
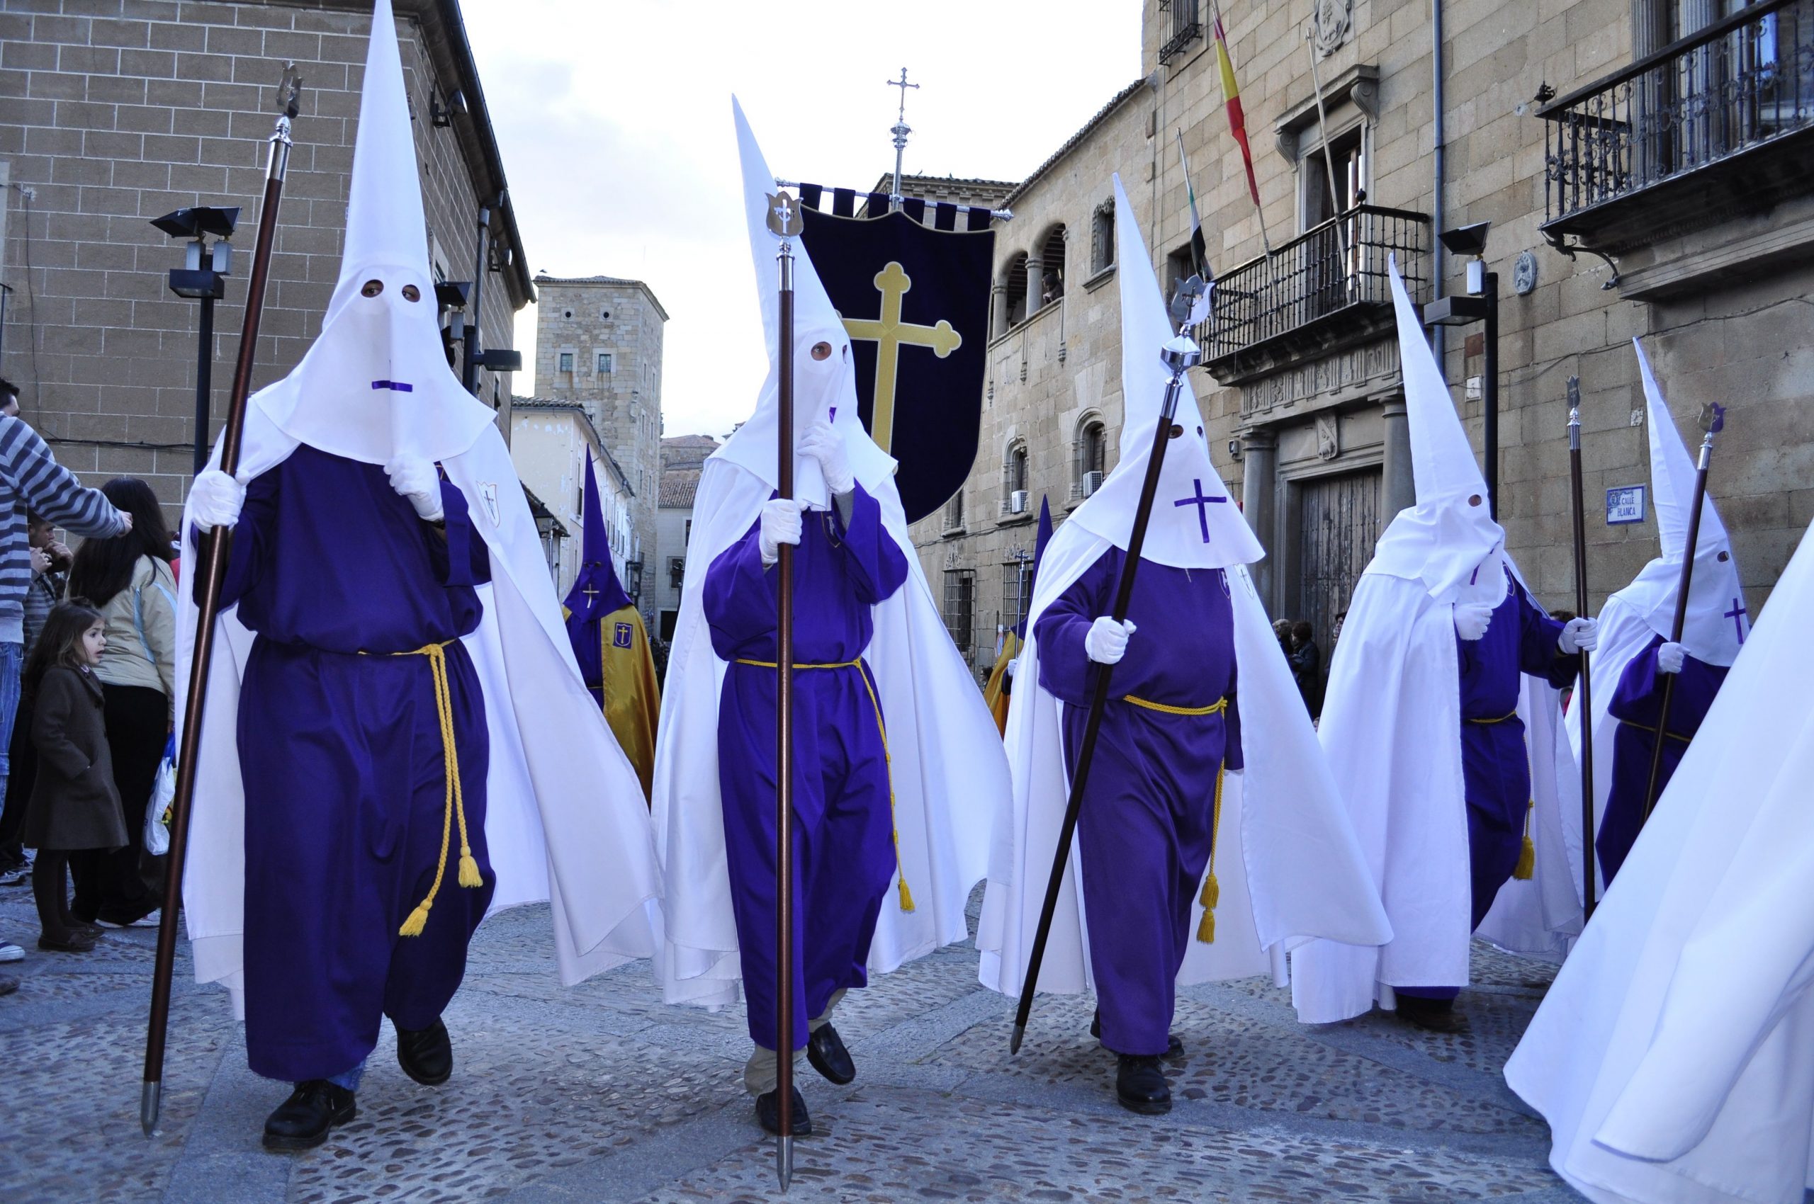
{"label": "blue and white striped shirt of the spectator at left edge", "polygon": [[25,511],[82,535],[122,535],[125,520],[107,495],[85,490],[56,462],[49,444],[22,419],[0,417],[0,644],[25,640],[25,589],[31,586],[31,548]]}

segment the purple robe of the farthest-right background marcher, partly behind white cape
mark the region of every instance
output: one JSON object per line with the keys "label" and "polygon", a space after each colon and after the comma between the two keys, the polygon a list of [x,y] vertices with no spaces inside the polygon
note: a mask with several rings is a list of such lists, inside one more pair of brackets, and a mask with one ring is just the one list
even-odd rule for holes
{"label": "purple robe of the farthest-right background marcher, partly behind white cape", "polygon": [[[1656,671],[1656,649],[1663,646],[1663,636],[1654,636],[1642,653],[1631,658],[1625,673],[1613,691],[1609,714],[1618,720],[1613,733],[1613,789],[1605,796],[1605,814],[1600,818],[1600,836],[1595,850],[1600,854],[1600,870],[1607,885],[1625,863],[1625,854],[1638,840],[1643,827],[1643,796],[1651,787],[1651,758],[1656,752],[1656,720],[1663,707],[1663,682],[1667,675]],[[1674,776],[1682,754],[1689,749],[1689,740],[1700,731],[1707,709],[1712,707],[1720,684],[1725,682],[1727,665],[1711,665],[1705,660],[1683,658],[1682,673],[1676,675],[1676,687],[1669,694],[1669,738],[1663,742],[1663,765],[1656,778],[1656,794],[1662,796],[1669,778]]]}

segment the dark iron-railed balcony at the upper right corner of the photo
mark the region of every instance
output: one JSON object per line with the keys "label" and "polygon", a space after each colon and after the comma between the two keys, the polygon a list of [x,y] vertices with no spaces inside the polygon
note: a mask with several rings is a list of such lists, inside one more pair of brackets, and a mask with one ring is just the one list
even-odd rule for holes
{"label": "dark iron-railed balcony at the upper right corner of the photo", "polygon": [[1814,0],[1761,0],[1538,111],[1544,236],[1618,256],[1814,190]]}

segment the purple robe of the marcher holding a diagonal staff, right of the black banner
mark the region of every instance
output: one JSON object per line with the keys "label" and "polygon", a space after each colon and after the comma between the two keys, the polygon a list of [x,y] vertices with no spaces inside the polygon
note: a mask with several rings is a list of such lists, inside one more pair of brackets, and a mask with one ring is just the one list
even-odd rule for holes
{"label": "purple robe of the marcher holding a diagonal staff, right of the black banner", "polygon": [[[1083,651],[1090,624],[1114,609],[1126,553],[1110,548],[1034,624],[1039,684],[1065,704],[1065,760],[1076,771],[1101,665]],[[1126,655],[1090,762],[1078,841],[1090,970],[1103,1044],[1165,1054],[1190,914],[1215,840],[1215,785],[1241,769],[1234,606],[1223,569],[1146,560],[1134,578]],[[1224,711],[1170,714],[1126,702]]]}

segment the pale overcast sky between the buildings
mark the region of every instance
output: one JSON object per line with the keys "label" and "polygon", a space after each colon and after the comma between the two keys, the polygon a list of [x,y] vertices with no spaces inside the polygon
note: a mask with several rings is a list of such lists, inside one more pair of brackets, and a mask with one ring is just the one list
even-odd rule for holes
{"label": "pale overcast sky between the buildings", "polygon": [[[668,310],[666,433],[722,435],[767,370],[731,92],[785,180],[1021,180],[1139,74],[1132,0],[466,0],[530,270],[644,279]],[[532,366],[535,308],[517,346]],[[515,379],[532,390],[532,372]]]}

